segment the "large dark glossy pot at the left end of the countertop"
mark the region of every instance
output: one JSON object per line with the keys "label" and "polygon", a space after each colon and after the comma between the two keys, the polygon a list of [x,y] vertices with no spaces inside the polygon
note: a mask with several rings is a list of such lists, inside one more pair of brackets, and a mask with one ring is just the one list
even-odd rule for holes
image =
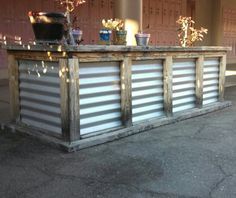
{"label": "large dark glossy pot at the left end of the countertop", "polygon": [[30,11],[28,16],[36,41],[57,42],[62,40],[66,20],[63,13]]}

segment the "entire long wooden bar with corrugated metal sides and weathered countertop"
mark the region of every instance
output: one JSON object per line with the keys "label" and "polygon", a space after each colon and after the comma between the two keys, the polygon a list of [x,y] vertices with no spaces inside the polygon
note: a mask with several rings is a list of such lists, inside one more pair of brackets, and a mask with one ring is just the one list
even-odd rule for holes
{"label": "entire long wooden bar with corrugated metal sides and weathered countertop", "polygon": [[6,49],[9,127],[68,151],[231,105],[224,101],[227,47],[8,45]]}

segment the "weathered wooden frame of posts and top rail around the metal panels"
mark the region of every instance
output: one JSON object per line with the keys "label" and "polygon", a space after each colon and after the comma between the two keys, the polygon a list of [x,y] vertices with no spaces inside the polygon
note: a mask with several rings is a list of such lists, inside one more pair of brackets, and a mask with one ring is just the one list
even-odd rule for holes
{"label": "weathered wooden frame of posts and top rail around the metal panels", "polygon": [[[120,86],[121,86],[121,121],[123,127],[132,130],[132,61],[141,60],[162,60],[163,62],[163,97],[164,112],[166,119],[173,119],[173,59],[194,58],[196,60],[196,109],[202,112],[209,112],[210,107],[203,106],[203,66],[205,58],[219,58],[219,104],[224,101],[224,84],[226,69],[226,52],[228,48],[224,47],[196,47],[196,48],[140,48],[140,47],[119,47],[119,46],[79,46],[78,48],[63,49],[58,52],[54,47],[32,46],[25,48],[9,47],[8,49],[8,68],[10,85],[10,108],[11,121],[20,125],[20,97],[19,97],[19,65],[18,60],[53,60],[58,62],[59,82],[60,82],[60,101],[61,101],[61,129],[62,141],[65,143],[80,142],[84,137],[80,134],[80,81],[79,66],[80,63],[116,61],[120,62]],[[48,56],[48,51],[52,51],[53,57]],[[227,106],[224,104],[224,106]],[[198,110],[194,111],[198,111]],[[184,112],[183,112],[184,114]],[[198,113],[193,113],[194,115]],[[186,114],[191,117],[191,113]],[[175,115],[176,116],[176,115]],[[182,116],[182,114],[181,114]],[[186,116],[182,116],[185,118]],[[157,118],[157,122],[158,122]],[[147,120],[149,122],[149,120]],[[166,122],[166,121],[165,121]],[[142,131],[149,128],[146,122],[140,123],[140,128],[135,126],[136,131]],[[153,125],[155,126],[155,124]],[[151,127],[152,128],[152,127]],[[106,133],[124,129],[105,130]],[[101,133],[105,133],[104,131]],[[98,135],[99,132],[94,134]],[[86,135],[86,137],[89,137]]]}

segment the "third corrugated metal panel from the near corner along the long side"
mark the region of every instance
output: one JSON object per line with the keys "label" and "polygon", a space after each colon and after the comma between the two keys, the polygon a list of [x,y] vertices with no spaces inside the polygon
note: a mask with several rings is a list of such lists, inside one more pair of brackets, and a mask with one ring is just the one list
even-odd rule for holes
{"label": "third corrugated metal panel from the near corner along the long side", "polygon": [[173,113],[196,106],[195,62],[195,59],[175,59],[173,61]]}

